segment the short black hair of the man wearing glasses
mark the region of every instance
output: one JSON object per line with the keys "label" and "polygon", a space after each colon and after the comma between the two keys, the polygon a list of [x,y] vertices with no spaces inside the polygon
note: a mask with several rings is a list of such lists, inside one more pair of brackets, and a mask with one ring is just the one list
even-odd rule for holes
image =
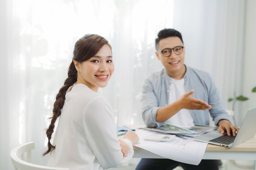
{"label": "short black hair of the man wearing glasses", "polygon": [[179,37],[179,39],[183,43],[182,35],[177,30],[171,29],[171,28],[165,28],[165,29],[159,31],[159,33],[158,33],[158,38],[156,38],[156,50],[158,50],[159,41],[161,39],[172,37],[172,36]]}

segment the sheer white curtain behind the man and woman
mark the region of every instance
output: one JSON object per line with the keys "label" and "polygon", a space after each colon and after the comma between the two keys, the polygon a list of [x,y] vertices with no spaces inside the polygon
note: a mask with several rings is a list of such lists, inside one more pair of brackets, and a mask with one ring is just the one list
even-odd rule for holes
{"label": "sheer white curtain behind the man and woman", "polygon": [[162,68],[155,38],[163,28],[183,35],[185,64],[208,71],[226,102],[240,92],[244,1],[240,0],[1,0],[0,169],[13,169],[9,152],[35,141],[33,162],[45,164],[44,129],[67,76],[74,43],[104,36],[115,72],[105,95],[120,124],[143,123],[143,80]]}

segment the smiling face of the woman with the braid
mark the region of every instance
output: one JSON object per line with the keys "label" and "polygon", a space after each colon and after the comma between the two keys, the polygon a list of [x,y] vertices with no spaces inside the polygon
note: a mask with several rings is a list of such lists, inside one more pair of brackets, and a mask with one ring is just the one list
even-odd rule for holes
{"label": "smiling face of the woman with the braid", "polygon": [[82,63],[74,61],[78,70],[77,84],[85,84],[94,91],[105,87],[114,72],[112,51],[104,45],[92,58]]}

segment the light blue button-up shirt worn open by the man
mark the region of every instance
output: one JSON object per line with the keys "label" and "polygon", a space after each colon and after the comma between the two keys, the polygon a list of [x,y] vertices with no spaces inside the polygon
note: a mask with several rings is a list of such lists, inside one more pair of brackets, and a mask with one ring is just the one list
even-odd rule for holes
{"label": "light blue button-up shirt worn open by the man", "polygon": [[[228,116],[221,102],[216,85],[209,73],[186,66],[184,75],[185,91],[192,89],[194,98],[207,102],[212,106],[210,110],[190,110],[195,124],[209,125],[209,113],[217,125],[220,119],[227,119],[232,124],[233,120]],[[156,115],[160,107],[169,103],[169,90],[172,78],[165,68],[148,76],[142,86],[141,109],[142,118],[148,127],[156,127],[161,122],[156,121]]]}

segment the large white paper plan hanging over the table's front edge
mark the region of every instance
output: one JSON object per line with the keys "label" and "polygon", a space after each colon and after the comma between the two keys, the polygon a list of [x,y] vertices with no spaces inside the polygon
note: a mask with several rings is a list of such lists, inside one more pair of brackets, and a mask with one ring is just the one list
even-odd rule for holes
{"label": "large white paper plan hanging over the table's front edge", "polygon": [[198,165],[202,160],[207,146],[207,143],[177,136],[173,137],[169,141],[161,142],[144,140],[147,136],[162,134],[146,129],[139,129],[136,133],[139,136],[139,141],[134,146],[156,153],[168,159],[173,159],[187,164]]}

